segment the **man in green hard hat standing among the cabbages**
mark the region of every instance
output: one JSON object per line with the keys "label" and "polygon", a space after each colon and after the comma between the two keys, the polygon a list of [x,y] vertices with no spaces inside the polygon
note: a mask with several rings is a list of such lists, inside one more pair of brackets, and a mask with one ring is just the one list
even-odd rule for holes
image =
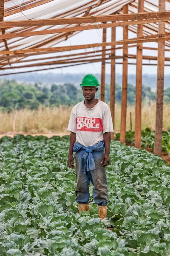
{"label": "man in green hard hat standing among the cabbages", "polygon": [[[85,99],[71,111],[68,124],[68,131],[71,131],[68,166],[73,169],[75,159],[79,213],[89,211],[91,182],[94,186],[94,202],[98,204],[99,217],[103,219],[106,218],[109,202],[105,168],[110,161],[113,132],[111,111],[106,103],[95,98],[99,86],[95,76],[86,75],[80,86]],[[74,157],[73,152],[76,152]]]}

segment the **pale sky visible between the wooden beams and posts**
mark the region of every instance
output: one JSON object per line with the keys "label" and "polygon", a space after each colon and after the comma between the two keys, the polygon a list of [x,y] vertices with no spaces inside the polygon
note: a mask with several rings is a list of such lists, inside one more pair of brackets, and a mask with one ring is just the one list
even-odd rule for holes
{"label": "pale sky visible between the wooden beams and posts", "polygon": [[[136,34],[132,32],[128,32],[128,38],[135,38]],[[116,40],[123,39],[123,28],[116,27]],[[111,41],[111,28],[107,29],[107,42]],[[68,38],[67,41],[63,41],[56,46],[71,46],[71,45],[79,45],[79,44],[94,44],[94,43],[102,43],[102,29],[93,29],[82,31],[77,35]],[[143,46],[145,47],[157,47],[157,43],[144,43]],[[108,47],[109,48],[109,47]],[[92,51],[93,48],[87,49],[86,51]],[[81,51],[71,51],[65,52],[65,54],[74,53],[74,52],[82,52]],[[129,54],[136,54],[136,47],[128,49]],[[62,54],[62,53],[60,53]],[[122,50],[116,50],[116,55],[122,55]],[[150,56],[157,56],[157,51],[154,50],[143,50],[143,55],[150,55]],[[170,52],[165,52],[166,57],[170,57]],[[130,62],[135,63],[136,60],[129,60]],[[145,63],[154,63],[156,64],[157,61],[144,61]],[[105,67],[106,73],[111,73],[111,65],[106,64]],[[170,67],[165,67],[165,74],[170,73]],[[47,70],[49,72],[49,70]],[[51,70],[53,73],[101,73],[101,63],[92,63],[92,64],[84,64],[79,65],[76,67],[68,67],[62,69]],[[44,73],[44,71],[43,71]],[[116,73],[122,73],[122,64],[116,65]],[[157,66],[143,66],[142,68],[143,74],[156,74],[157,73]],[[128,65],[128,74],[136,74],[136,65]]]}

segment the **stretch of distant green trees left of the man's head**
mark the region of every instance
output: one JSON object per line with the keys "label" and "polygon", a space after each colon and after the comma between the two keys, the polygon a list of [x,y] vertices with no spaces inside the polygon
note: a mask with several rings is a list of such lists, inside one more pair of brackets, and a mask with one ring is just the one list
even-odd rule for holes
{"label": "stretch of distant green trees left of the man's head", "polygon": [[[82,100],[74,84],[41,87],[41,84],[18,84],[16,81],[0,81],[0,109],[11,111],[12,109],[36,109],[39,105],[59,106],[75,105]],[[81,91],[80,91],[81,92]]]}

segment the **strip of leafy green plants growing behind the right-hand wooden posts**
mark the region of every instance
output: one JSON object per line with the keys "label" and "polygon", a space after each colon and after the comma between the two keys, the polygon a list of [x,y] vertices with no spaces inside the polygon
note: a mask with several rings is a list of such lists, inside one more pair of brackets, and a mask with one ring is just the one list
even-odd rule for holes
{"label": "strip of leafy green plants growing behind the right-hand wooden posts", "polygon": [[[120,133],[115,134],[115,139],[120,140]],[[126,132],[126,142],[131,145],[135,144],[135,131]],[[155,144],[155,131],[146,128],[141,134],[142,148],[154,149]],[[162,131],[162,151],[167,152],[170,156],[170,130]]]}

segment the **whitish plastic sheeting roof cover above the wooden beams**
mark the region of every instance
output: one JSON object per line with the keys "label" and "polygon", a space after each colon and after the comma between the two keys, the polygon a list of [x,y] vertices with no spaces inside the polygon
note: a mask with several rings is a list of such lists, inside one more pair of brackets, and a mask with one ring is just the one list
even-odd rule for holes
{"label": "whitish plastic sheeting roof cover above the wooden beams", "polygon": [[[99,15],[111,15],[122,14],[122,8],[128,4],[128,13],[138,12],[138,0],[4,0],[4,21],[17,21],[17,20],[42,20],[42,19],[55,19],[62,17],[87,17],[87,16],[99,16]],[[144,12],[158,11],[158,0],[144,0]],[[170,1],[166,1],[166,10],[170,10]],[[94,24],[94,23],[93,23]],[[99,23],[97,23],[99,24]],[[84,26],[87,24],[81,24]],[[2,30],[2,34],[14,34],[19,32],[35,32],[50,29],[62,29],[65,27],[73,27],[74,25],[57,25],[57,26],[31,26],[31,27],[12,27]],[[137,32],[137,25],[128,26],[131,32]],[[165,31],[170,32],[170,23],[165,24]],[[0,39],[0,51],[19,50],[19,49],[31,49],[31,48],[44,48],[44,47],[56,47],[62,41],[65,41],[71,36],[81,33],[76,32],[61,32],[46,35],[34,35],[28,37],[15,37],[10,39]],[[158,33],[158,23],[144,24],[143,35],[154,35]],[[170,42],[166,41],[165,45],[170,47]],[[99,48],[101,49],[101,48]],[[94,51],[93,48],[89,49]],[[96,54],[96,58],[102,58],[101,52]],[[9,73],[13,71],[14,67],[23,68],[24,65],[34,63],[38,65],[37,61],[40,58],[39,63],[42,63],[41,58],[44,58],[45,52],[38,53],[25,53],[14,55],[0,55],[0,69],[1,73]],[[65,52],[62,53],[63,55]],[[74,51],[75,54],[75,51]],[[99,56],[98,56],[99,55]],[[49,59],[48,59],[49,56]],[[51,57],[54,54],[45,55],[45,59],[52,61]],[[56,55],[57,58],[58,55]],[[109,55],[108,55],[109,56]],[[62,58],[63,64],[68,64],[70,58]],[[77,56],[80,60],[81,56]],[[86,56],[87,57],[87,56]],[[83,58],[83,57],[82,57]],[[33,62],[30,62],[30,59]],[[86,61],[90,61],[89,58],[85,58]],[[92,59],[92,58],[91,58]],[[55,59],[58,60],[58,59]],[[67,61],[68,60],[68,61]],[[29,62],[27,62],[29,61]],[[61,61],[61,58],[60,58]],[[79,63],[79,62],[77,62]],[[52,65],[52,64],[51,64]],[[48,64],[49,67],[49,64]],[[9,68],[9,70],[8,70]],[[5,74],[4,73],[4,74]]]}

